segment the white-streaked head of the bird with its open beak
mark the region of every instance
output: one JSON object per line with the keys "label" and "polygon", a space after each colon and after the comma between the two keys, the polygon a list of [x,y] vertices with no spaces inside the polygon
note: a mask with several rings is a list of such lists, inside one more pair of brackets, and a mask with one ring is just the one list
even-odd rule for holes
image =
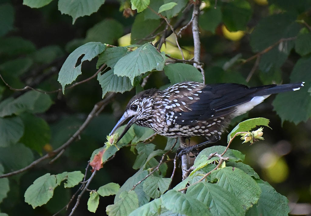
{"label": "white-streaked head of the bird with its open beak", "polygon": [[147,89],[132,97],[126,106],[125,112],[114,126],[110,135],[114,132],[129,118],[128,124],[125,126],[123,132],[120,134],[117,142],[124,136],[132,124],[136,123],[140,126],[148,127],[151,120],[152,108],[153,108],[153,95],[156,93],[156,89]]}

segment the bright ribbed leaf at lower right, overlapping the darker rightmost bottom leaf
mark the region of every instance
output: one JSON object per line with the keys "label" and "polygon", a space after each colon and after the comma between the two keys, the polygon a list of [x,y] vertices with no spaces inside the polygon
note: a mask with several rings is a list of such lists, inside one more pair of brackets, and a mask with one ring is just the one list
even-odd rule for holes
{"label": "bright ribbed leaf at lower right, overlapping the darker rightmost bottom leaf", "polygon": [[217,185],[234,194],[249,209],[259,200],[261,189],[256,181],[239,168],[224,167],[211,172]]}

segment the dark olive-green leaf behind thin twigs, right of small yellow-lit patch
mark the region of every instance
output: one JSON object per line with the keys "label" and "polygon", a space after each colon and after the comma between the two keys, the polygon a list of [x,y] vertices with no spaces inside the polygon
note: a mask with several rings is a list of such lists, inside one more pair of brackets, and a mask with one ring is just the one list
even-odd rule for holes
{"label": "dark olive-green leaf behind thin twigs, right of small yellow-lit patch", "polygon": [[151,33],[156,34],[154,30],[160,25],[160,20],[146,20],[144,14],[138,14],[131,30],[131,43],[144,44],[146,41],[152,41]]}

